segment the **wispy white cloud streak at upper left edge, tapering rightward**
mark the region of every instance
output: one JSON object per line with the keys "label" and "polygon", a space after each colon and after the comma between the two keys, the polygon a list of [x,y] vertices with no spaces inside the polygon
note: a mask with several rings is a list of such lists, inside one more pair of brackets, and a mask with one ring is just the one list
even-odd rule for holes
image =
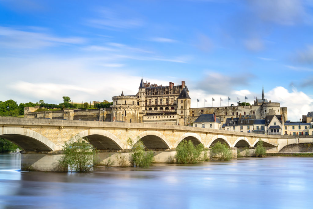
{"label": "wispy white cloud streak at upper left edge, tapering rightward", "polygon": [[9,27],[0,27],[0,47],[38,49],[59,44],[83,44],[80,37],[58,37],[47,33],[29,32]]}

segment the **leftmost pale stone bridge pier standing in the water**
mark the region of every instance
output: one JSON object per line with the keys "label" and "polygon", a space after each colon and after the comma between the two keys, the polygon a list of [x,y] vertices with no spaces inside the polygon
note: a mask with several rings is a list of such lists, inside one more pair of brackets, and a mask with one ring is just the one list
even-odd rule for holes
{"label": "leftmost pale stone bridge pier standing in the water", "polygon": [[21,170],[65,172],[68,168],[59,165],[63,154],[60,151],[21,151]]}

